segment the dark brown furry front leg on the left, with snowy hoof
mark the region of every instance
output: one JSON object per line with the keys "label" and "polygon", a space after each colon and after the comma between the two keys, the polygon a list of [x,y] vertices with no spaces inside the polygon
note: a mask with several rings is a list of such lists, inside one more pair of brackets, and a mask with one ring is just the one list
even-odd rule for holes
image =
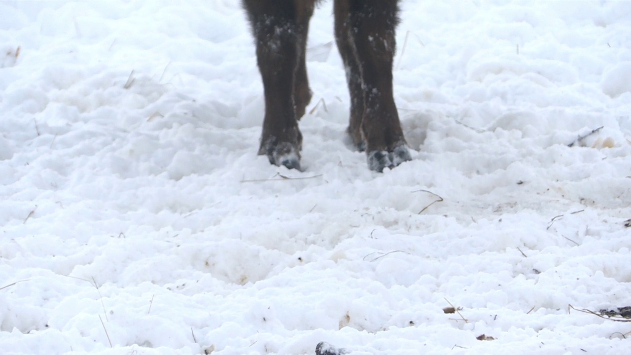
{"label": "dark brown furry front leg on the left, with snowy hoof", "polygon": [[[297,114],[307,105],[300,91],[295,100],[296,77],[300,57],[304,62],[306,39],[312,0],[244,0],[244,8],[252,25],[256,42],[256,57],[265,95],[265,116],[259,154],[269,162],[300,169],[302,134],[298,129]],[[306,21],[304,19],[307,19]],[[304,37],[304,39],[303,39]],[[304,64],[302,65],[304,67]],[[300,83],[306,82],[300,71]],[[302,86],[301,86],[302,88]],[[302,90],[302,89],[301,89]],[[307,83],[307,90],[309,86]],[[301,109],[302,107],[302,109]]]}

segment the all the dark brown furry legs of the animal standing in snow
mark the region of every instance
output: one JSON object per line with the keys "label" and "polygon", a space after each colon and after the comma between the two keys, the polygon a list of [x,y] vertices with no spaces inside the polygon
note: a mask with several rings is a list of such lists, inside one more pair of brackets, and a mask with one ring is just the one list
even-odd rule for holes
{"label": "all the dark brown furry legs of the animal standing in snow", "polygon": [[[300,168],[298,119],[311,99],[305,46],[316,0],[243,0],[256,42],[265,116],[259,154]],[[351,98],[348,133],[370,169],[410,160],[392,96],[397,0],[335,0],[335,38]]]}

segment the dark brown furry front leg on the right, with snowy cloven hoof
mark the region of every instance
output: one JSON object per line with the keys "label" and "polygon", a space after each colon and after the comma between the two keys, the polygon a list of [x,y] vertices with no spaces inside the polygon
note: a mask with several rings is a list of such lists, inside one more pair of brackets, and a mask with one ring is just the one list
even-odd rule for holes
{"label": "dark brown furry front leg on the right, with snowy cloven hoof", "polygon": [[[355,54],[360,73],[363,93],[360,132],[365,142],[369,168],[383,171],[386,167],[395,167],[411,159],[392,93],[398,1],[336,0],[335,9],[348,9],[348,30],[345,32],[348,33],[351,53]],[[352,60],[348,62],[353,63]],[[350,76],[352,107],[351,86],[355,87],[352,80],[357,74],[351,71]],[[353,117],[351,109],[351,131],[354,125],[357,125],[357,118]]]}

